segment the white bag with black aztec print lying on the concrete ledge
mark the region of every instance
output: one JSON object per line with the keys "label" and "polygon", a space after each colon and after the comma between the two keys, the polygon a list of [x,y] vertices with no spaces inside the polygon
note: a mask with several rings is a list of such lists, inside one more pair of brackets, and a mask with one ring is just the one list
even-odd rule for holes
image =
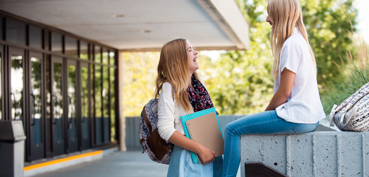
{"label": "white bag with black aztec print lying on the concrete ledge", "polygon": [[341,131],[369,131],[369,83],[346,98],[341,104],[334,105],[330,114],[330,126]]}

